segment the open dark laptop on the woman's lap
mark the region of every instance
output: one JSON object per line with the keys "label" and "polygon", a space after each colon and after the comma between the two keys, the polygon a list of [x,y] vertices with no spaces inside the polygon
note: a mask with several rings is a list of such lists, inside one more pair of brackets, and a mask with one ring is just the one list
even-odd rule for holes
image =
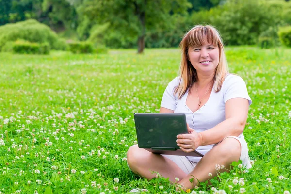
{"label": "open dark laptop on the woman's lap", "polygon": [[203,157],[177,146],[177,135],[188,133],[184,113],[134,113],[134,121],[139,148],[156,154]]}

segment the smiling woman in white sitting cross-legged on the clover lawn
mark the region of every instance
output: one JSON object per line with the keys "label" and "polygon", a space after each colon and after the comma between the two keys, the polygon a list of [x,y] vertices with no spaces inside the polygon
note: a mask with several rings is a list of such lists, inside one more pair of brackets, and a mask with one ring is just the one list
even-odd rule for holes
{"label": "smiling woman in white sitting cross-legged on the clover lawn", "polygon": [[[184,152],[197,150],[204,157],[157,155],[131,146],[130,169],[145,178],[152,171],[169,177],[184,189],[229,169],[242,160],[250,168],[247,143],[242,135],[252,103],[241,77],[228,73],[224,46],[212,26],[195,26],[181,43],[180,76],[171,81],[162,97],[160,113],[185,113],[189,134],[177,136]],[[191,183],[189,179],[193,178]]]}

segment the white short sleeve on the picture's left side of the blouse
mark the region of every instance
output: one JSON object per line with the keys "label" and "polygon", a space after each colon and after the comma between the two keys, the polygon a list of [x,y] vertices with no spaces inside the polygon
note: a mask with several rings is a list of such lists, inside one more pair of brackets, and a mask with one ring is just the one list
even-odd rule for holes
{"label": "white short sleeve on the picture's left side of the blouse", "polygon": [[175,111],[177,105],[176,101],[178,97],[177,95],[174,95],[174,91],[178,84],[179,84],[178,77],[176,77],[168,84],[162,96],[161,107]]}

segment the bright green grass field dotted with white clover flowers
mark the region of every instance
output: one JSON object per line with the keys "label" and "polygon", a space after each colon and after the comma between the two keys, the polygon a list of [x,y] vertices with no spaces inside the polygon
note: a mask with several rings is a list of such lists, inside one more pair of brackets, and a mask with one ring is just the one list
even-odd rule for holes
{"label": "bright green grass field dotted with white clover flowers", "polygon": [[[136,144],[133,113],[158,112],[178,75],[178,49],[103,55],[0,53],[0,194],[175,193],[165,178],[127,167]],[[244,136],[249,172],[210,177],[193,193],[291,192],[291,49],[228,47],[230,72],[253,100]],[[220,181],[218,181],[220,180]],[[162,187],[161,187],[162,186]],[[220,190],[220,191],[219,191]]]}

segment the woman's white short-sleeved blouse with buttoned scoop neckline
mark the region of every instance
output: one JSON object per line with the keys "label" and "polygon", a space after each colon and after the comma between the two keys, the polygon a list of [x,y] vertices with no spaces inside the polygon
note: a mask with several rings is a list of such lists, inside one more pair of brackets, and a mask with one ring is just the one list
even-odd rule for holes
{"label": "woman's white short-sleeved blouse with buttoned scoop neckline", "polygon": [[[161,107],[171,109],[174,113],[184,113],[188,125],[195,129],[196,132],[211,129],[226,119],[225,103],[227,100],[232,98],[245,98],[249,100],[249,105],[252,103],[243,79],[240,76],[228,74],[222,84],[221,90],[215,93],[212,88],[210,97],[206,104],[193,113],[186,105],[189,91],[187,91],[181,99],[178,99],[177,94],[174,95],[174,89],[178,84],[179,77],[176,77],[168,84],[162,97]],[[242,141],[245,141],[242,134],[239,138],[241,138]],[[212,149],[213,145],[214,144],[199,146],[196,150],[205,155],[210,149]],[[201,157],[187,158],[193,162],[199,162],[201,159]]]}

